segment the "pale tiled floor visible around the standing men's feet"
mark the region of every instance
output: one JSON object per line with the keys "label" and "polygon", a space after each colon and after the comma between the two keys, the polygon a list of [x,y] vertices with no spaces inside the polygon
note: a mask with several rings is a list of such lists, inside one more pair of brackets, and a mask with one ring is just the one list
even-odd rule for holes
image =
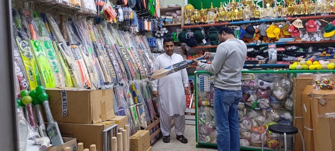
{"label": "pale tiled floor visible around the standing men's feet", "polygon": [[160,138],[158,142],[156,142],[152,146],[153,151],[167,151],[167,150],[173,150],[173,151],[193,151],[193,150],[217,150],[217,149],[211,149],[211,148],[196,148],[195,147],[195,125],[186,125],[185,128],[185,134],[184,136],[187,138],[188,143],[181,143],[179,140],[175,138],[174,133],[174,126],[171,128],[171,134],[170,134],[170,142],[165,143],[163,142],[163,139]]}

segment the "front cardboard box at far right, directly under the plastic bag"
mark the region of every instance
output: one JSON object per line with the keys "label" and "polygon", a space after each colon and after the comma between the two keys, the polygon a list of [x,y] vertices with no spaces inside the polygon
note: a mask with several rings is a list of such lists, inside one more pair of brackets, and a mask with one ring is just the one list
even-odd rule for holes
{"label": "front cardboard box at far right, directly under the plastic bag", "polygon": [[[311,127],[312,127],[312,135],[311,138],[314,139],[314,150],[324,150],[325,148],[331,148],[329,145],[330,143],[325,144],[326,139],[330,139],[331,137],[325,137],[324,133],[331,133],[331,130],[329,130],[329,127],[325,127],[326,121],[323,121],[325,119],[325,113],[331,113],[335,112],[335,90],[333,89],[320,89],[316,90],[313,89],[313,86],[307,85],[303,91],[303,101],[307,102],[307,96],[309,96],[309,102],[310,102],[310,117],[311,117]],[[308,106],[306,106],[306,112],[308,113]],[[307,117],[306,117],[307,118]],[[304,119],[305,120],[305,117]],[[307,119],[306,119],[307,120]],[[329,120],[329,119],[328,119]],[[330,121],[329,121],[330,122]],[[331,123],[331,122],[330,122]],[[304,124],[309,125],[309,121],[304,121]],[[308,127],[307,127],[308,128]],[[327,132],[324,132],[324,130],[328,128]],[[333,138],[335,140],[335,138]],[[328,146],[328,147],[325,147]]]}

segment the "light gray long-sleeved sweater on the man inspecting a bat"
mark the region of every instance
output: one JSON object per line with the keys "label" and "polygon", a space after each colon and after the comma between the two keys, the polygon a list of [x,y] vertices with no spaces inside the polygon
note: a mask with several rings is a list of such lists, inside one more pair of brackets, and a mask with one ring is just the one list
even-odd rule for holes
{"label": "light gray long-sleeved sweater on the man inspecting a bat", "polygon": [[214,86],[225,90],[241,89],[241,70],[246,57],[246,45],[239,39],[227,39],[211,53],[211,64],[198,62],[200,70],[214,74]]}

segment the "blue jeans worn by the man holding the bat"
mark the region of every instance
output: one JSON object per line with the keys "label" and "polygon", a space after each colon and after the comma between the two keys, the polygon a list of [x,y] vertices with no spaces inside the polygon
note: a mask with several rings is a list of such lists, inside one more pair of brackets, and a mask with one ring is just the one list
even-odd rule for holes
{"label": "blue jeans worn by the man holding the bat", "polygon": [[219,151],[239,150],[237,105],[241,98],[241,90],[224,90],[215,87],[214,116],[217,131],[216,142]]}

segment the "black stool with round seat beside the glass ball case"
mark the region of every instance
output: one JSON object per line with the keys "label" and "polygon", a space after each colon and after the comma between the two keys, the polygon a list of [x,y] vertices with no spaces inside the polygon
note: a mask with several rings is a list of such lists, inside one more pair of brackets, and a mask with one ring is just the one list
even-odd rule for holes
{"label": "black stool with round seat beside the glass ball case", "polygon": [[285,124],[273,124],[273,125],[269,125],[268,128],[265,129],[264,135],[261,139],[261,150],[262,151],[264,150],[264,138],[265,138],[267,130],[280,134],[280,136],[279,136],[279,150],[281,150],[281,135],[284,134],[285,151],[287,151],[286,134],[296,134],[297,132],[299,132],[301,140],[302,140],[303,151],[305,150],[305,143],[303,141],[302,134],[301,134],[301,132],[298,128],[296,128],[294,126],[291,126],[291,125],[285,125]]}

